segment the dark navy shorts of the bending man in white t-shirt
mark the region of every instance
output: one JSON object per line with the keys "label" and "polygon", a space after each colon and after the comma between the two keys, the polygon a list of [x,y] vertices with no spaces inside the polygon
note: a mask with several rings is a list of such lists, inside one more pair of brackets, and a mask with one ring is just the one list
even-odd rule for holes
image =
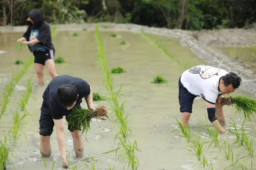
{"label": "dark navy shorts of the bending man in white t-shirt", "polygon": [[[180,77],[181,78],[181,77]],[[179,103],[180,103],[180,112],[192,113],[193,101],[196,98],[196,95],[191,94],[188,90],[182,85],[179,78]]]}

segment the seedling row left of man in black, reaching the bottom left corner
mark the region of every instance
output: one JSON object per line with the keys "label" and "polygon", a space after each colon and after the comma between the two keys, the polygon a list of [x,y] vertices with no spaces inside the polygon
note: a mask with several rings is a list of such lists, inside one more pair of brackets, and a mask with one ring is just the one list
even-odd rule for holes
{"label": "seedling row left of man in black, reaching the bottom left corner", "polygon": [[[32,86],[33,84],[31,84],[31,79],[30,79],[26,87],[26,92],[22,96],[22,99],[20,99],[19,105],[21,110],[23,106],[25,108],[26,106],[25,104],[27,104],[28,97],[32,92]],[[26,102],[24,102],[25,100]],[[13,125],[11,129],[8,131],[8,134],[5,135],[4,140],[0,140],[0,170],[5,170],[7,166],[11,164],[10,155],[14,151],[14,146],[17,143],[19,136],[21,135],[20,132],[22,132],[22,128],[26,124],[24,122],[24,119],[27,116],[29,116],[29,113],[27,111],[21,114],[21,112],[18,111],[18,109],[13,113],[12,115]],[[26,137],[26,134],[24,132],[23,134]]]}

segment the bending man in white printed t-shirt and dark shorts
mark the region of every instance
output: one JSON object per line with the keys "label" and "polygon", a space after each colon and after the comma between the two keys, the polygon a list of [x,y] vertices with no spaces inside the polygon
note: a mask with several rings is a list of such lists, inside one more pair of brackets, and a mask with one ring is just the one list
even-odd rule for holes
{"label": "bending man in white printed t-shirt and dark shorts", "polygon": [[[217,103],[224,97],[223,94],[234,92],[240,82],[237,74],[207,65],[194,66],[183,72],[178,83],[182,127],[184,123],[188,125],[193,101],[198,96],[206,101],[208,119],[212,125],[217,125],[219,132],[226,134],[227,131],[222,128],[226,124],[225,115]],[[231,104],[231,100],[226,103]]]}

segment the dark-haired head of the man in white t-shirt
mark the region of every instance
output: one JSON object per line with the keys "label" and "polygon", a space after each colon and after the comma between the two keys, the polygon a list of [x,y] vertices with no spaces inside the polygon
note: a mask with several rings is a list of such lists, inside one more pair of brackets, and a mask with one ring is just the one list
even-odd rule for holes
{"label": "dark-haired head of the man in white t-shirt", "polygon": [[221,78],[219,90],[222,94],[233,93],[240,86],[241,78],[237,74],[230,72]]}

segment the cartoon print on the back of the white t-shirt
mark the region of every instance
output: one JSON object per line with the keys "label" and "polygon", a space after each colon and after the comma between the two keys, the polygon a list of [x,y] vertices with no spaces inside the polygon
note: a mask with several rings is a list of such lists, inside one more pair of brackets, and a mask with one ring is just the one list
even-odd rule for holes
{"label": "cartoon print on the back of the white t-shirt", "polygon": [[188,69],[190,73],[199,74],[203,79],[210,78],[214,75],[218,76],[219,68],[215,68],[207,65],[199,65]]}

